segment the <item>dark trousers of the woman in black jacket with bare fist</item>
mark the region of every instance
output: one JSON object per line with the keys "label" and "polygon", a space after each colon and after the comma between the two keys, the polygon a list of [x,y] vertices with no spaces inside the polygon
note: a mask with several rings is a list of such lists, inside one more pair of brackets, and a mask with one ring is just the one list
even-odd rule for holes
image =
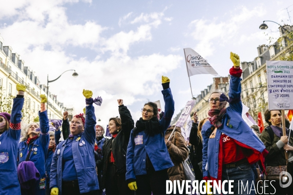
{"label": "dark trousers of the woman in black jacket with bare fist", "polygon": [[107,171],[103,176],[106,177],[106,195],[134,195],[134,191],[128,188],[125,174],[118,175],[114,163],[108,163]]}

